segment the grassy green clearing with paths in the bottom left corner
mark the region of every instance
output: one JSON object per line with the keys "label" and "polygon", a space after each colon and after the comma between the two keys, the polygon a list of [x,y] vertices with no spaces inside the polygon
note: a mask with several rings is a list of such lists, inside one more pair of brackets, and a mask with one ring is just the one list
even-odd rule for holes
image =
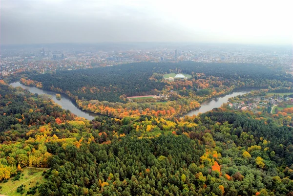
{"label": "grassy green clearing with paths in the bottom left corner", "polygon": [[[19,180],[13,181],[13,177],[11,177],[8,182],[1,182],[0,187],[0,195],[5,196],[21,196],[21,193],[17,193],[17,187],[19,187],[21,184],[25,185],[23,188],[24,194],[26,195],[26,192],[29,190],[29,188],[32,188],[34,186],[40,186],[44,182],[44,177],[42,176],[43,171],[47,169],[32,169],[32,168],[23,168],[23,172],[21,173],[21,178]],[[23,174],[23,176],[22,176]],[[39,182],[39,185],[37,184]],[[36,189],[38,194],[38,189]]]}

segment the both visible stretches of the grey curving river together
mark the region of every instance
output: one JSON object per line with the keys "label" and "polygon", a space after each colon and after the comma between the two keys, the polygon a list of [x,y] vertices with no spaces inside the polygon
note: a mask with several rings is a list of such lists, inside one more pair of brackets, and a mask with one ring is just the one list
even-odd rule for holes
{"label": "both visible stretches of the grey curving river together", "polygon": [[[80,109],[67,95],[65,95],[63,93],[60,93],[62,98],[61,98],[61,100],[58,100],[58,99],[56,99],[57,93],[50,91],[50,90],[43,90],[43,89],[40,89],[37,87],[25,86],[25,85],[22,85],[20,82],[10,83],[9,85],[11,85],[12,87],[22,87],[24,89],[29,90],[31,93],[47,94],[47,95],[51,96],[51,98],[54,100],[54,102],[57,103],[58,105],[60,105],[63,109],[68,109],[72,113],[74,113],[80,117],[84,117],[87,120],[93,120],[95,118],[95,116],[98,116],[98,114],[95,114],[92,112],[87,112],[87,111]],[[230,97],[243,95],[243,94],[249,93],[250,91],[251,91],[251,89],[249,89],[249,90],[246,89],[246,90],[230,93],[230,94],[225,95],[223,97],[209,99],[209,100],[205,101],[204,103],[202,103],[201,107],[199,109],[191,110],[187,114],[184,114],[183,116],[197,115],[198,113],[205,113],[205,112],[212,110],[214,108],[219,108],[222,106],[222,104],[227,103],[228,99]]]}

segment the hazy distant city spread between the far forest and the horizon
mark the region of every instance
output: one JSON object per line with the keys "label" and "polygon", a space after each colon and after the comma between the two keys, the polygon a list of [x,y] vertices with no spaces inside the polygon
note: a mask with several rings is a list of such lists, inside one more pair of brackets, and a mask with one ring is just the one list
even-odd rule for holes
{"label": "hazy distant city spread between the far forest and the horizon", "polygon": [[51,73],[135,62],[247,63],[293,73],[292,47],[233,44],[51,44],[2,46],[0,77],[22,71]]}

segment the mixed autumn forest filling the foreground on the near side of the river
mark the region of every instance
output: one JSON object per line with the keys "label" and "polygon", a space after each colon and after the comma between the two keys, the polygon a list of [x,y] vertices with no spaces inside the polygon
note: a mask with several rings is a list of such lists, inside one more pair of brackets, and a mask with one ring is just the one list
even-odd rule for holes
{"label": "mixed autumn forest filling the foreground on the near side of the river", "polygon": [[293,128],[268,113],[87,121],[0,84],[0,140],[0,181],[48,167],[42,196],[293,195]]}

